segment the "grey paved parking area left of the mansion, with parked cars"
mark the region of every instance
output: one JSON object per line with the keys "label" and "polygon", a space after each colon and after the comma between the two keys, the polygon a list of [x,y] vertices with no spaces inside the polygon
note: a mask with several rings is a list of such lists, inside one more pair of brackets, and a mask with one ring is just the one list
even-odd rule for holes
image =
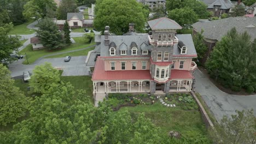
{"label": "grey paved parking area left of the mansion, with parked cars", "polygon": [[23,71],[33,71],[36,65],[43,64],[44,62],[50,62],[53,67],[62,68],[62,76],[75,76],[75,75],[89,75],[89,68],[85,68],[86,56],[72,57],[71,61],[64,62],[63,58],[43,58],[38,63],[32,65],[24,65],[22,61],[9,64],[9,70],[11,71],[11,77],[22,75]]}

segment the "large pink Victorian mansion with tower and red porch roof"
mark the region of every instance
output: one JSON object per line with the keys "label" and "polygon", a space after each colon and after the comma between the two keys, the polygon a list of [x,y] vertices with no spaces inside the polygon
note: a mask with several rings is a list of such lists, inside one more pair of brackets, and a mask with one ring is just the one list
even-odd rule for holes
{"label": "large pink Victorian mansion with tower and red porch roof", "polygon": [[[176,34],[177,22],[161,17],[148,21],[152,35],[135,33],[134,23],[124,35],[96,35],[86,67],[94,69],[95,105],[106,93],[190,92],[197,57],[191,34]],[[96,61],[96,62],[95,62]],[[95,67],[95,68],[94,68]]]}

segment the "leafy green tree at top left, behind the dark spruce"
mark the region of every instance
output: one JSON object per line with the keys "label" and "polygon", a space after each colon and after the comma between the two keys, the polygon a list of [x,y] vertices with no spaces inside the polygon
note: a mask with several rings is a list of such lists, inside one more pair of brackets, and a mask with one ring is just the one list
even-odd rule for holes
{"label": "leafy green tree at top left, behind the dark spruce", "polygon": [[23,15],[29,19],[36,17],[36,19],[44,18],[49,10],[56,11],[57,5],[54,0],[31,0],[24,5]]}

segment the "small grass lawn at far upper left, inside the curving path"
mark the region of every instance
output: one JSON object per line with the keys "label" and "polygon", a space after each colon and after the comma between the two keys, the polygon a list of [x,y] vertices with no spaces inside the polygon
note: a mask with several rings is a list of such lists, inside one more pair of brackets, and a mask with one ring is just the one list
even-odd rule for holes
{"label": "small grass lawn at far upper left, inside the curving path", "polygon": [[8,34],[32,34],[34,33],[34,29],[28,29],[27,25],[34,22],[34,19],[28,20],[25,23],[22,23],[21,25],[14,26],[13,29]]}

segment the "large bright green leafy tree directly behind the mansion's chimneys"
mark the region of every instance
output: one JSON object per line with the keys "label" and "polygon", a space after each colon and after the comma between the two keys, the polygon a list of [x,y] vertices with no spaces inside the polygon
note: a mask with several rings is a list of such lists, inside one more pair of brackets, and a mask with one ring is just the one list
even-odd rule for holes
{"label": "large bright green leafy tree directly behind the mansion's chimneys", "polygon": [[149,14],[136,0],[97,1],[95,9],[95,28],[103,31],[105,26],[110,26],[110,31],[118,35],[128,32],[130,22],[135,23],[136,31],[143,32]]}

